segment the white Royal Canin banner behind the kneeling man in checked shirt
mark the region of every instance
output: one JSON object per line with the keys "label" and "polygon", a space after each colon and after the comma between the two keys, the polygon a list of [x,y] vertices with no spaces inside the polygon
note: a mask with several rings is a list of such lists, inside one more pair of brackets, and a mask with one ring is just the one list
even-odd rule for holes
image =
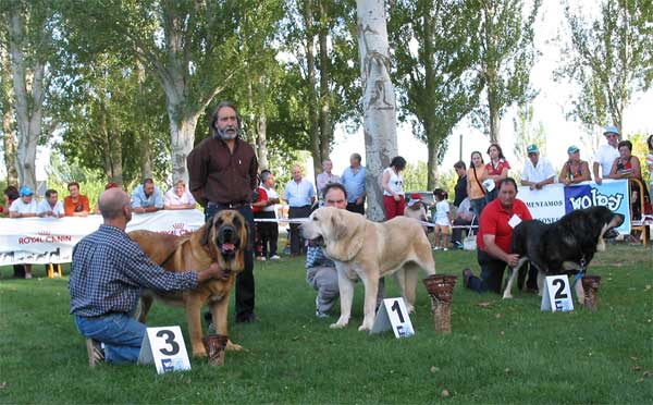
{"label": "white Royal Canin banner behind the kneeling man in checked shirt", "polygon": [[[102,217],[0,218],[0,266],[19,263],[64,263],[73,247],[97,231]],[[199,210],[170,210],[134,214],[126,232],[147,230],[184,235],[205,223]]]}

